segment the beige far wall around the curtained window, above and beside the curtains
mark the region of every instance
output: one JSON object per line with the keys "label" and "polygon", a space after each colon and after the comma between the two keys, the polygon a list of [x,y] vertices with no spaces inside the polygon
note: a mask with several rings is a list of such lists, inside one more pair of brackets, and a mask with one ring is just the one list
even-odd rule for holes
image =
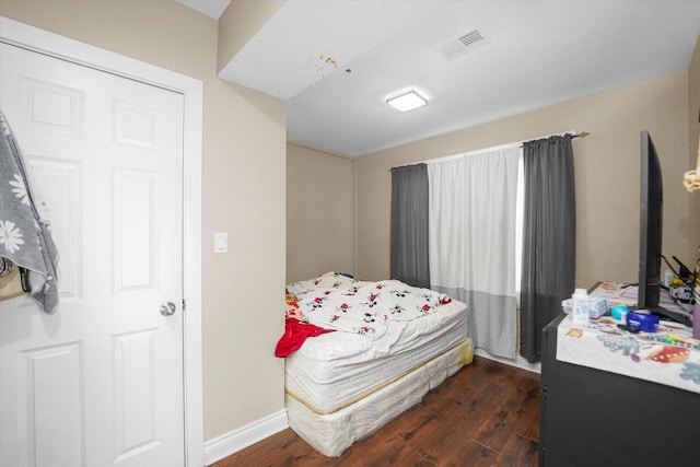
{"label": "beige far wall around the curtained window, above and beside the curtains", "polygon": [[650,131],[662,161],[664,252],[685,259],[689,200],[679,174],[688,165],[687,77],[678,72],[359,157],[355,272],[389,273],[389,167],[568,130],[591,133],[573,143],[576,287],[637,281],[641,130]]}

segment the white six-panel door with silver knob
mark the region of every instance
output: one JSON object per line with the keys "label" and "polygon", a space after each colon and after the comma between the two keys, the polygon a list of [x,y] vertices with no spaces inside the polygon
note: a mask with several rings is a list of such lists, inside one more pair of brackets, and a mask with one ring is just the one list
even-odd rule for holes
{"label": "white six-panel door with silver knob", "polygon": [[55,315],[0,302],[0,465],[183,465],[183,96],[0,44],[0,108],[60,253]]}

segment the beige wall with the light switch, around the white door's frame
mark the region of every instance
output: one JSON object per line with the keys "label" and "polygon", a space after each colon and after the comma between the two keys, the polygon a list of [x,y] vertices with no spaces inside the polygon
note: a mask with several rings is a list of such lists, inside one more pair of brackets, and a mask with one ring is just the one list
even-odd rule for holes
{"label": "beige wall with the light switch, around the white door's frame", "polygon": [[2,0],[0,15],[203,82],[205,440],[282,410],[284,103],[217,79],[217,22],[175,1]]}

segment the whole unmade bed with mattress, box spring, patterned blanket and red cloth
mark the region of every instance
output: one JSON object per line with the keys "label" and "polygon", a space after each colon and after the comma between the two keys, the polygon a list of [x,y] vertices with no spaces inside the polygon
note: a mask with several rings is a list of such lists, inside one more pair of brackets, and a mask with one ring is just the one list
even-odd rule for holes
{"label": "whole unmade bed with mattress, box spring, patterned blanket and red cloth", "polygon": [[287,292],[289,425],[328,457],[474,358],[467,306],[444,294],[337,272],[290,283]]}

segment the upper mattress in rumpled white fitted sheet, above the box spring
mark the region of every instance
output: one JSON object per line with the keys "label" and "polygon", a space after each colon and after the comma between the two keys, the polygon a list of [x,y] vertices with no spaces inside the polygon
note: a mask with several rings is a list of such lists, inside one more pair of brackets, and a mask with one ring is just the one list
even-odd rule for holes
{"label": "upper mattress in rumpled white fitted sheet, above the box spring", "polygon": [[287,392],[318,413],[329,413],[376,392],[468,335],[459,301],[409,322],[389,322],[381,338],[330,332],[307,339],[287,358]]}

